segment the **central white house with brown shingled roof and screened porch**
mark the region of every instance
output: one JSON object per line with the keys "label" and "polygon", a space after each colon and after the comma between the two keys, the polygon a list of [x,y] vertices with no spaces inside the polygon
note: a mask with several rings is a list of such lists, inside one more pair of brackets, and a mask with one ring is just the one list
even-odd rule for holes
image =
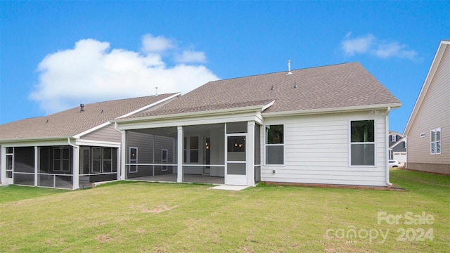
{"label": "central white house with brown shingled roof and screened porch", "polygon": [[[113,120],[120,179],[390,186],[388,115],[399,106],[359,63],[208,82]],[[173,153],[158,150],[160,164],[148,158],[153,136],[174,140]]]}

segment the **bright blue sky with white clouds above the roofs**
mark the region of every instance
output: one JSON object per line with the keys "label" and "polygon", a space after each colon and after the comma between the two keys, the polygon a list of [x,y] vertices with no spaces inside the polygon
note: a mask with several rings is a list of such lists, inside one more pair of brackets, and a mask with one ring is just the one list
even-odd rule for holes
{"label": "bright blue sky with white clouds above the roofs", "polygon": [[0,1],[0,124],[213,79],[359,62],[403,132],[450,1]]}

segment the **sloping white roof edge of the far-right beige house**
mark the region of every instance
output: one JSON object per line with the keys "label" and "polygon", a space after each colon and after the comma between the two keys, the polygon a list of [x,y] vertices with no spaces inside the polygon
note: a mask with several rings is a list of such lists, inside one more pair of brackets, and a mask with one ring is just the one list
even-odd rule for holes
{"label": "sloping white roof edge of the far-right beige house", "polygon": [[437,67],[439,67],[439,63],[441,63],[442,56],[444,56],[445,49],[450,46],[450,39],[444,39],[440,41],[439,47],[437,48],[435,58],[431,63],[430,70],[428,70],[427,77],[425,77],[425,82],[423,82],[422,89],[420,89],[419,96],[417,97],[416,103],[414,104],[413,110],[411,111],[411,115],[409,115],[408,122],[406,123],[405,129],[403,131],[404,136],[409,134],[409,130],[413,124],[413,120],[416,117],[420,106],[422,105],[423,99],[427,94],[428,89],[430,88],[430,84],[432,82],[433,77],[435,77],[435,73],[437,71]]}

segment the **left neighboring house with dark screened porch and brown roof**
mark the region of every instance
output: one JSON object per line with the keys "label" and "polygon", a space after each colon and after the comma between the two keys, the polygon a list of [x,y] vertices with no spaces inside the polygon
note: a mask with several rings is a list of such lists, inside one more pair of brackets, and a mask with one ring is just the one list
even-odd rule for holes
{"label": "left neighboring house with dark screened porch and brown roof", "polygon": [[[119,179],[122,135],[110,120],[154,110],[180,95],[91,103],[2,124],[1,183],[77,189]],[[157,138],[154,145],[165,147],[165,141]]]}

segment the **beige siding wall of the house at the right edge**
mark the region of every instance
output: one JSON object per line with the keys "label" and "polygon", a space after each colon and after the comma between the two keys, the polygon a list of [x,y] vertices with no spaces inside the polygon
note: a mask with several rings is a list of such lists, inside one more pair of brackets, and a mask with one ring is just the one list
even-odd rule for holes
{"label": "beige siding wall of the house at the right edge", "polygon": [[[437,63],[435,63],[437,64]],[[408,169],[450,164],[450,46],[446,47],[408,134]],[[430,131],[441,128],[441,154],[430,154]],[[425,137],[420,138],[420,134]],[[417,166],[414,164],[418,164]],[[450,173],[450,171],[448,171]]]}

